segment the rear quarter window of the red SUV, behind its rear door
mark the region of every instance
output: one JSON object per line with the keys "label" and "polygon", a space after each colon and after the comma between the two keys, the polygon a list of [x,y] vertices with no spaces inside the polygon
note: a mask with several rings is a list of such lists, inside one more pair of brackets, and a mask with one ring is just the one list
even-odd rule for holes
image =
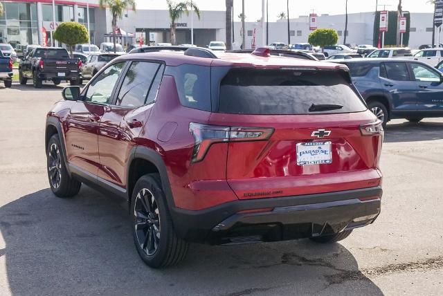
{"label": "rear quarter window of the red SUV, behind its rear door", "polygon": [[183,64],[168,66],[175,77],[180,103],[189,108],[210,111],[210,67]]}

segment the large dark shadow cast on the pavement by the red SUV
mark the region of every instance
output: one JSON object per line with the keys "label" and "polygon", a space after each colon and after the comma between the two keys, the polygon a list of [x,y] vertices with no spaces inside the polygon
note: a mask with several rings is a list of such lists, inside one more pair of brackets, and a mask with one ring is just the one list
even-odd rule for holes
{"label": "large dark shadow cast on the pavement by the red SUV", "polygon": [[87,186],[3,205],[0,229],[13,295],[383,295],[339,243],[192,244],[179,266],[152,270],[133,246],[126,201]]}

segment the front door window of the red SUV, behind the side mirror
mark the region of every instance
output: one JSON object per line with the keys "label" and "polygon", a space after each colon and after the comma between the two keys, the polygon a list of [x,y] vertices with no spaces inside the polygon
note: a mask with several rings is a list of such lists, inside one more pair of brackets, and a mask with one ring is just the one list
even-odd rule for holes
{"label": "front door window of the red SUV, behind the side mirror", "polygon": [[105,71],[100,73],[98,77],[95,77],[91,84],[89,84],[84,101],[109,104],[112,90],[114,89],[118,76],[122,72],[124,66],[125,62],[112,64],[107,67]]}

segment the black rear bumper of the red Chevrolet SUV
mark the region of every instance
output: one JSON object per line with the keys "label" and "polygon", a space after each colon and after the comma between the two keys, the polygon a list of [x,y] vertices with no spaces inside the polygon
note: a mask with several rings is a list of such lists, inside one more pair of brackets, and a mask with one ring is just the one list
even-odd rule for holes
{"label": "black rear bumper of the red Chevrolet SUV", "polygon": [[[282,241],[340,232],[372,223],[380,213],[381,187],[324,194],[232,201],[206,210],[174,208],[183,239],[211,244]],[[267,209],[266,212],[244,212]]]}

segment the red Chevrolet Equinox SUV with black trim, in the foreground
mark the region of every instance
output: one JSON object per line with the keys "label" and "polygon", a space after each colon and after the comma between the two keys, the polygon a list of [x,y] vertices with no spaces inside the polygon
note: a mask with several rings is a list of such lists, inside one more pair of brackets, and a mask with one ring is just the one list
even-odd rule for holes
{"label": "red Chevrolet Equinox SUV with black trim, in the foreground", "polygon": [[56,196],[127,198],[138,254],[345,239],[381,205],[381,122],[346,66],[204,48],[124,55],[46,119]]}

